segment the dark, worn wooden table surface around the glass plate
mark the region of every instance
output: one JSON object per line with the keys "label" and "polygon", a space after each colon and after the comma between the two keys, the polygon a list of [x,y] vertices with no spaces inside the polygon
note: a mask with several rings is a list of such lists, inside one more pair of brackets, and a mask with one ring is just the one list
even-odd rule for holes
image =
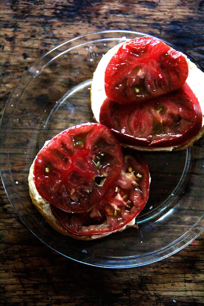
{"label": "dark, worn wooden table surface around the glass plate", "polygon": [[[201,65],[203,1],[2,1],[0,114],[32,63],[78,35],[105,29],[146,32]],[[143,267],[104,269],[69,260],[20,221],[0,185],[0,305],[203,305],[204,234]]]}

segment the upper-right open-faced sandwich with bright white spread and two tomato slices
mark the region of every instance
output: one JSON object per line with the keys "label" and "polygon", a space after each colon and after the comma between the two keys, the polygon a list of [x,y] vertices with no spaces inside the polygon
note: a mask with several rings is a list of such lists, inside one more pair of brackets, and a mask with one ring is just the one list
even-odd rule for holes
{"label": "upper-right open-faced sandwich with bright white spread and two tomato slices", "polygon": [[153,37],[110,49],[95,70],[91,108],[125,147],[172,151],[204,133],[204,73]]}

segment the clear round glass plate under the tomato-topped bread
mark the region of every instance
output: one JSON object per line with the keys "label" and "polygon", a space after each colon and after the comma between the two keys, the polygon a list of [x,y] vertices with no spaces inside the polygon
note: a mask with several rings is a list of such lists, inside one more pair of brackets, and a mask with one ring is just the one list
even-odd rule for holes
{"label": "clear round glass plate under the tomato-topped bread", "polygon": [[115,268],[153,263],[181,250],[204,229],[203,138],[189,150],[144,154],[151,185],[148,203],[136,219],[138,230],[78,241],[53,230],[29,197],[28,171],[45,140],[94,122],[89,89],[102,55],[126,37],[143,35],[103,31],[62,43],[24,73],[2,116],[1,176],[10,202],[41,241],[81,263]]}

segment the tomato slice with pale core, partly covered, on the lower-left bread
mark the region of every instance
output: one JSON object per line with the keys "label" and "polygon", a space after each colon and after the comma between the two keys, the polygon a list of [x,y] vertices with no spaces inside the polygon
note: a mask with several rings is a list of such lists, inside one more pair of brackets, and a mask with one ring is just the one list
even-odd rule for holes
{"label": "tomato slice with pale core, partly covered, on the lower-left bread", "polygon": [[120,175],[102,200],[86,213],[69,214],[51,206],[54,216],[69,232],[79,236],[112,233],[131,222],[147,203],[150,175],[146,160],[125,156]]}

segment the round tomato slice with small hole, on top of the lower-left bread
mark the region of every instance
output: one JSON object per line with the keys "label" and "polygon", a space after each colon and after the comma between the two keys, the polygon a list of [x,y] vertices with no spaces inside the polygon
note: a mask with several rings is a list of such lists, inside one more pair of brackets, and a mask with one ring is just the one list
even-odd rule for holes
{"label": "round tomato slice with small hole, on top of the lower-left bread", "polygon": [[71,127],[43,147],[34,163],[39,194],[67,212],[89,211],[121,171],[121,145],[107,127]]}

